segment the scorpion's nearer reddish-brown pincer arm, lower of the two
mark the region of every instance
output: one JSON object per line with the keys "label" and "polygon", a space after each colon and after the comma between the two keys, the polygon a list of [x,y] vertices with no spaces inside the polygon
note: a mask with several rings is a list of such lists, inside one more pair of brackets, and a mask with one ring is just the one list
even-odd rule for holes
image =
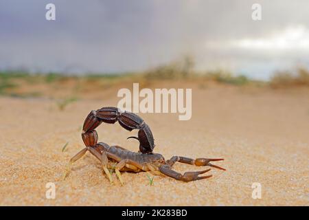
{"label": "scorpion's nearer reddish-brown pincer arm, lower of the two", "polygon": [[207,179],[209,177],[212,177],[212,175],[201,176],[201,177],[198,176],[200,174],[207,173],[210,169],[196,171],[196,172],[185,172],[183,175],[181,173],[177,173],[176,171],[172,170],[171,166],[169,165],[162,165],[160,166],[159,170],[161,173],[169,177],[172,177],[176,180],[181,180],[181,181],[194,181],[194,180]]}

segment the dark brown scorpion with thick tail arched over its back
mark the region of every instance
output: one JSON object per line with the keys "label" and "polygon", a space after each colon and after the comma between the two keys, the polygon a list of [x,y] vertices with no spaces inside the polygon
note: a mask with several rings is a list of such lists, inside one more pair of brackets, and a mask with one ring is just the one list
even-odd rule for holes
{"label": "dark brown scorpion with thick tail arched over its back", "polygon": [[[108,124],[115,124],[115,122],[119,122],[119,124],[128,131],[138,129],[139,131],[137,137],[128,137],[128,139],[134,138],[139,141],[139,151],[128,151],[126,148],[121,146],[109,146],[104,142],[98,142],[98,133],[95,131],[95,128],[97,128],[102,122]],[[146,124],[146,122],[144,122],[139,115],[129,111],[121,111],[116,107],[102,107],[96,111],[92,110],[84,120],[84,124],[82,126],[82,140],[86,147],[70,159],[69,164],[67,165],[65,177],[67,177],[70,172],[72,164],[80,159],[87,151],[100,160],[102,169],[111,183],[113,183],[113,179],[108,169],[114,168],[115,174],[122,185],[124,184],[124,181],[120,171],[135,173],[144,171],[153,173],[154,175],[166,175],[176,180],[186,182],[198,179],[207,179],[212,176],[201,176],[201,174],[207,173],[211,170],[210,168],[196,172],[185,172],[183,174],[177,173],[172,170],[172,166],[176,162],[196,166],[211,166],[220,170],[225,170],[225,168],[210,163],[224,160],[222,158],[191,159],[188,157],[173,156],[171,159],[165,160],[163,155],[152,152],[155,148],[155,140],[148,124]]]}

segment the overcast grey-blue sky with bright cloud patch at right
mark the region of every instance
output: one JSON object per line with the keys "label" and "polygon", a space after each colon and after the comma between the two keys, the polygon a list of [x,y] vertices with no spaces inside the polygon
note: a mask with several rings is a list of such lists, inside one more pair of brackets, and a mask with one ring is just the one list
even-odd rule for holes
{"label": "overcast grey-blue sky with bright cloud patch at right", "polygon": [[198,70],[260,79],[309,67],[309,1],[0,0],[1,70],[127,72],[186,55]]}

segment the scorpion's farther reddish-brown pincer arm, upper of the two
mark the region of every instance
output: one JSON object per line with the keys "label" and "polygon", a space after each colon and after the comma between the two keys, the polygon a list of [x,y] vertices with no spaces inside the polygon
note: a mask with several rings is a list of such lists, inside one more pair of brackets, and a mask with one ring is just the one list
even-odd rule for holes
{"label": "scorpion's farther reddish-brown pincer arm, upper of the two", "polygon": [[214,168],[218,168],[220,170],[226,170],[225,168],[222,168],[220,166],[210,164],[210,162],[212,162],[212,161],[220,161],[220,160],[224,160],[224,159],[222,159],[222,158],[217,158],[217,159],[207,159],[207,158],[191,159],[191,158],[188,158],[188,157],[173,156],[166,163],[170,166],[173,166],[175,162],[180,162],[180,163],[183,163],[183,164],[191,164],[191,165],[196,165],[196,166],[211,166],[211,167],[214,167]]}

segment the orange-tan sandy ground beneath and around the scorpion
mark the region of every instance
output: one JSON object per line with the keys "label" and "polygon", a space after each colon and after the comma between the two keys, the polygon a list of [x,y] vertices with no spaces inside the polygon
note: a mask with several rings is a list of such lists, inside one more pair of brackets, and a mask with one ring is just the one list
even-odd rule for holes
{"label": "orange-tan sandy ground beneath and around the scorpion", "polygon": [[[0,98],[1,206],[308,206],[309,205],[309,90],[207,85],[193,89],[192,119],[177,114],[139,114],[155,136],[155,152],[166,159],[223,157],[214,176],[185,183],[146,173],[115,174],[111,185],[100,163],[87,153],[62,180],[70,157],[84,147],[80,137],[91,109],[117,105],[110,98],[82,98],[59,111],[47,98]],[[98,94],[96,94],[98,96]],[[102,124],[100,141],[137,151],[135,140],[118,124]],[[65,152],[62,147],[67,144]],[[175,164],[179,172],[203,167]],[[150,175],[151,176],[151,175]],[[46,184],[56,186],[47,199]],[[253,199],[254,182],[262,186]]]}

